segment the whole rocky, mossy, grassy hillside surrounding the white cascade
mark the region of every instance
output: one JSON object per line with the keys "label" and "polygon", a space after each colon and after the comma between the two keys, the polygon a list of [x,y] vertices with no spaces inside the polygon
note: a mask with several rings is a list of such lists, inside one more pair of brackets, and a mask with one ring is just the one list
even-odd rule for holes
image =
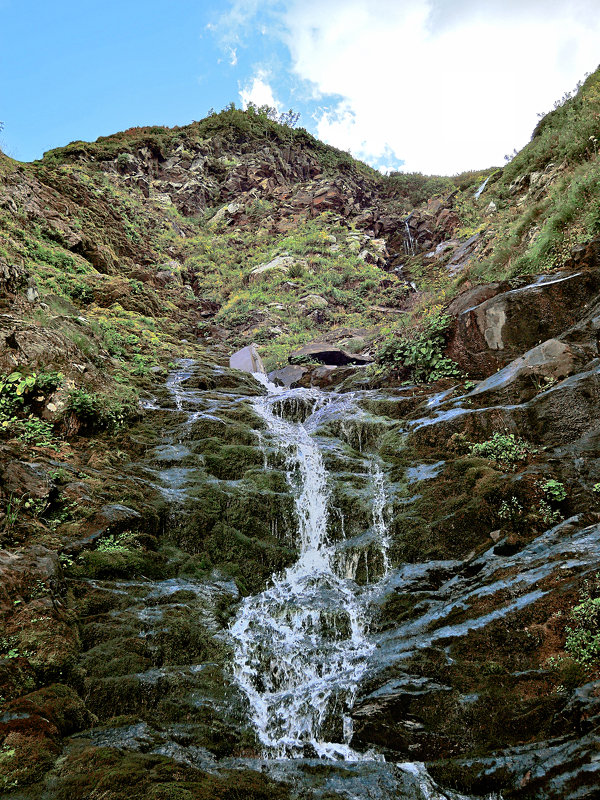
{"label": "whole rocky, mossy, grassy hillside surrounding the white cascade", "polygon": [[[0,154],[2,797],[596,796],[599,120],[600,71],[452,178],[235,108]],[[250,344],[334,398],[372,655],[323,724],[385,762],[264,759],[233,680],[299,549]]]}

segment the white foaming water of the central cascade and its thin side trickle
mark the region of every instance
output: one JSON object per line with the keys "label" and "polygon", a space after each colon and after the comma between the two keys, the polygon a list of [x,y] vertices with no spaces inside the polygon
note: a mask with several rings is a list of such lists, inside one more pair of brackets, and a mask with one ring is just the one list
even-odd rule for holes
{"label": "white foaming water of the central cascade and its thin side trickle", "polygon": [[[349,711],[373,650],[365,631],[365,599],[354,581],[335,570],[327,537],[328,476],[310,436],[331,396],[311,389],[286,392],[256,377],[269,395],[253,406],[269,441],[285,457],[300,556],[268,589],[243,602],[231,626],[235,678],[250,702],[265,756],[373,760],[379,757],[349,745]],[[277,415],[285,401],[304,404],[310,413],[303,423]],[[341,405],[346,408],[348,399]],[[383,473],[375,467],[372,482],[373,527],[381,534],[387,568]]]}

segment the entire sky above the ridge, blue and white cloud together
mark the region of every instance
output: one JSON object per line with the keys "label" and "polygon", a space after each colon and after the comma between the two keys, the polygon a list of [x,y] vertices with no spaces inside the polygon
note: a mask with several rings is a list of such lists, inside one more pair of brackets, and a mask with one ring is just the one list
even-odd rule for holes
{"label": "entire sky above the ridge, blue and white cloud together", "polygon": [[600,61],[598,0],[0,0],[0,146],[28,161],[229,101],[382,170],[501,164]]}

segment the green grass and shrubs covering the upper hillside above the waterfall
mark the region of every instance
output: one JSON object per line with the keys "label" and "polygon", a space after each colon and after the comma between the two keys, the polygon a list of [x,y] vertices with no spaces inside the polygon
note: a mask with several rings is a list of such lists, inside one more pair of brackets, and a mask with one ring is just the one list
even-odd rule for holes
{"label": "green grass and shrubs covering the upper hillside above the waterfall", "polygon": [[[31,183],[33,192],[42,187],[46,208],[54,204],[53,213],[59,216],[66,209],[71,233],[80,232],[86,242],[93,242],[113,268],[112,274],[99,271],[78,252],[82,248],[69,246],[68,237],[48,223],[43,209],[31,214],[25,202],[16,215],[6,205],[0,208],[0,259],[26,265],[37,283],[47,306],[31,310],[38,324],[49,324],[67,307],[84,313],[92,327],[82,331],[76,343],[91,358],[99,351],[115,357],[114,370],[123,381],[143,382],[153,367],[181,354],[181,339],[189,340],[187,352],[201,347],[205,339],[210,342],[215,325],[227,335],[225,349],[255,340],[268,366],[274,367],[284,363],[295,346],[336,329],[348,329],[346,341],[365,329],[394,337],[422,324],[464,286],[560,267],[574,244],[599,232],[599,118],[596,72],[574,98],[541,120],[530,144],[503,170],[454,178],[382,178],[302,129],[291,130],[235,109],[185,128],[136,128],[95,143],[74,142],[32,165],[1,156],[0,181],[5,187],[23,180]],[[419,290],[409,300],[403,281],[357,257],[352,225],[335,215],[303,220],[287,233],[276,233],[270,223],[277,219],[277,203],[264,198],[254,202],[245,225],[213,225],[214,208],[184,218],[172,206],[144,203],[117,175],[102,169],[103,162],[135,153],[142,145],[164,157],[176,146],[207,141],[218,141],[225,153],[248,145],[257,151],[265,145],[309,149],[324,175],[366,181],[381,204],[395,213],[407,213],[432,195],[456,192],[454,210],[462,222],[458,236],[482,231],[484,246],[455,277],[448,275],[443,260],[431,266],[422,256],[408,259],[406,271]],[[525,194],[527,183],[514,190],[523,175],[541,173],[552,163],[556,174],[543,191]],[[213,166],[221,170],[221,178],[227,176],[227,159],[225,166],[223,159]],[[476,201],[474,188],[486,175],[491,175],[488,187]],[[497,212],[486,215],[490,201]],[[222,198],[216,199],[215,207],[220,204]],[[331,236],[336,239],[333,248]],[[254,267],[281,253],[303,263],[291,276],[274,273],[249,283]],[[176,269],[179,278],[163,288],[154,274],[160,264],[173,259],[181,265]],[[310,313],[310,295],[327,301],[323,314]],[[197,298],[217,304],[213,319],[200,317]],[[382,315],[381,306],[409,313]],[[344,338],[343,332],[338,338]],[[350,341],[351,347],[364,344],[364,338]]]}

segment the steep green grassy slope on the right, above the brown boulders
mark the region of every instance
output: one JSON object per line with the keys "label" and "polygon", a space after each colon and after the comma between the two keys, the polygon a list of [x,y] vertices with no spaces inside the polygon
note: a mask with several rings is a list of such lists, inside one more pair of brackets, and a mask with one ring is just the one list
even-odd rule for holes
{"label": "steep green grassy slope on the right, above the brown boulders", "polygon": [[[503,169],[387,180],[385,191],[403,208],[413,198],[425,202],[429,191],[458,190],[454,210],[462,227],[454,236],[466,240],[481,234],[475,258],[454,276],[444,258],[433,265],[422,254],[408,259],[406,271],[419,288],[418,299],[409,318],[384,331],[387,340],[405,328],[422,328],[432,312],[443,310],[465,288],[560,269],[574,246],[600,234],[600,69],[556,105]],[[488,176],[485,191],[475,199],[476,187]],[[490,213],[491,202],[496,210]]]}

